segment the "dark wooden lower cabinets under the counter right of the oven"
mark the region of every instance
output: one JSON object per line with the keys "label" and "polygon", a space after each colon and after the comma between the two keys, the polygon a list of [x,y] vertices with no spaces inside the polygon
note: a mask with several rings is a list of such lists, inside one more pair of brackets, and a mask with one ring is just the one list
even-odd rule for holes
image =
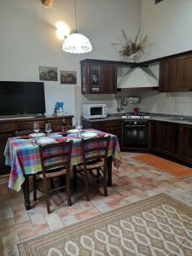
{"label": "dark wooden lower cabinets under the counter right of the oven", "polygon": [[149,149],[192,164],[192,125],[150,121]]}

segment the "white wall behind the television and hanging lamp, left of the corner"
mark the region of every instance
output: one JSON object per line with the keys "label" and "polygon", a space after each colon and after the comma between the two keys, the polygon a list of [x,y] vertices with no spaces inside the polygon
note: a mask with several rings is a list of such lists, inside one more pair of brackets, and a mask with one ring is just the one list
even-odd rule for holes
{"label": "white wall behind the television and hanging lamp, left of the corner", "polygon": [[[93,51],[70,55],[61,50],[55,23],[62,20],[74,29],[74,1],[55,0],[55,6],[46,9],[40,0],[0,0],[0,80],[38,81],[38,67],[49,66],[76,70],[79,85],[80,60],[120,60],[111,43],[119,41],[122,28],[131,36],[136,34],[140,8],[140,0],[77,0],[79,32],[90,38]],[[44,84],[48,114],[57,101],[75,114],[74,85]]]}

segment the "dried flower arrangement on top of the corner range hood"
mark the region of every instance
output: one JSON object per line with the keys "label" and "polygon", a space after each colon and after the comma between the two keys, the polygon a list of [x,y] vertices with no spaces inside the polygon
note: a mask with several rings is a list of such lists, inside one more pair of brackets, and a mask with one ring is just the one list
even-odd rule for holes
{"label": "dried flower arrangement on top of the corner range hood", "polygon": [[[131,38],[127,37],[125,31],[122,29],[124,42],[121,45],[122,49],[119,50],[120,55],[124,56],[135,56],[135,55],[143,55],[145,49],[150,45],[148,35],[141,37],[140,36],[141,29],[139,28],[137,32],[137,36],[134,41]],[[113,43],[113,45],[119,45],[119,43]]]}

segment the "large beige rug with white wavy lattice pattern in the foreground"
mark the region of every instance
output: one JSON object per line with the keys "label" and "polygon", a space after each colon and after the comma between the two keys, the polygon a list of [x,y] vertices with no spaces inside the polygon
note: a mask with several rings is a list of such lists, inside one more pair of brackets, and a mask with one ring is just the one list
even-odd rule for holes
{"label": "large beige rug with white wavy lattice pattern in the foreground", "polygon": [[192,255],[192,211],[169,195],[155,195],[18,247],[29,256]]}

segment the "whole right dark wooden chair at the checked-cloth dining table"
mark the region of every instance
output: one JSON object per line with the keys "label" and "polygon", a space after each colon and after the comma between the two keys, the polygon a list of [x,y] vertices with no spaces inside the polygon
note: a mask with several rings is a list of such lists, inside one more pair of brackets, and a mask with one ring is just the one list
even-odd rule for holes
{"label": "whole right dark wooden chair at the checked-cloth dining table", "polygon": [[[104,195],[108,195],[108,148],[110,136],[82,139],[83,163],[73,166],[74,185],[77,178],[84,181],[87,201],[89,196],[89,183],[96,180],[103,182]],[[96,175],[93,176],[93,171]]]}

